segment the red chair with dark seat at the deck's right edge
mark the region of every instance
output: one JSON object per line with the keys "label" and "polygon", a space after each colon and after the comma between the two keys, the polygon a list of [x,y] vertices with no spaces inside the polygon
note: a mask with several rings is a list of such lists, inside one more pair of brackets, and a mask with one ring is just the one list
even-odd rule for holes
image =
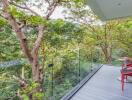
{"label": "red chair with dark seat at the deck's right edge", "polygon": [[127,79],[127,76],[132,76],[132,64],[127,64],[126,67],[122,67],[121,70],[121,84],[122,91],[124,91],[124,80]]}

